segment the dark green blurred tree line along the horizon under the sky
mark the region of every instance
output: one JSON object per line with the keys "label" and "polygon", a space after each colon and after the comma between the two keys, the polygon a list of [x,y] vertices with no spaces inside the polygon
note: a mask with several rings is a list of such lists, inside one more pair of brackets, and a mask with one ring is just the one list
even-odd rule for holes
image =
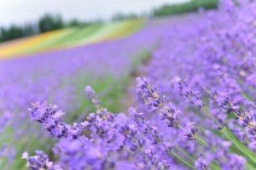
{"label": "dark green blurred tree line along the horizon under the sky", "polygon": [[[154,8],[153,12],[149,14],[152,17],[165,16],[170,14],[183,14],[197,11],[199,8],[212,9],[218,7],[218,0],[191,0],[188,3],[180,3],[175,5],[163,5],[160,8]],[[138,17],[145,17],[147,14],[114,14],[112,19],[127,20]],[[102,20],[95,20],[92,22],[83,22],[80,20],[70,20],[64,22],[61,15],[45,14],[38,22],[33,24],[26,24],[24,26],[12,25],[9,27],[0,28],[0,42],[9,41],[15,38],[28,37],[46,31],[53,31],[71,26],[90,26],[92,24],[102,23]]]}

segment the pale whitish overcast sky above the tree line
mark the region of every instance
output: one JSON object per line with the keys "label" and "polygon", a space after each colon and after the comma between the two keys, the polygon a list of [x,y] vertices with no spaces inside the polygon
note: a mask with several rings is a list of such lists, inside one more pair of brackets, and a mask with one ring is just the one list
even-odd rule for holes
{"label": "pale whitish overcast sky above the tree line", "polygon": [[0,0],[0,26],[35,22],[44,14],[64,20],[109,20],[113,14],[142,14],[162,4],[189,0]]}

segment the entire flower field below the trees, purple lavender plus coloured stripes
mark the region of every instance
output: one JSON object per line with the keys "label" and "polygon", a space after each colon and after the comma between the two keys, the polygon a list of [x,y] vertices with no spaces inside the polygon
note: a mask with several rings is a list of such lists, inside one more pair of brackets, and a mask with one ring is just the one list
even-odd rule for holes
{"label": "entire flower field below the trees, purple lavender plus coloured stripes", "polygon": [[124,23],[0,46],[0,169],[256,169],[256,3]]}

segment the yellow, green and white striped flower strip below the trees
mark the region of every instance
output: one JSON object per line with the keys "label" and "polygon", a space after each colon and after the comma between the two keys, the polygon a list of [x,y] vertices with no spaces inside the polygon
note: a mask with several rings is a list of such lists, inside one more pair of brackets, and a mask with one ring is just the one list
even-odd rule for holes
{"label": "yellow, green and white striped flower strip below the trees", "polygon": [[21,42],[0,46],[0,59],[128,37],[137,32],[143,26],[143,23],[144,21],[141,19],[124,20],[108,25],[92,25],[50,31],[35,37],[28,37]]}

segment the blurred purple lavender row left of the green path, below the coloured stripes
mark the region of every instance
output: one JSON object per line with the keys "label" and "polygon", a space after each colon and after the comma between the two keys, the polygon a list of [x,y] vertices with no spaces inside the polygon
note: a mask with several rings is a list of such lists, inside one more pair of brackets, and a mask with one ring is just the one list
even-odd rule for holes
{"label": "blurred purple lavender row left of the green path, below the coloured stripes", "polygon": [[154,48],[167,28],[148,21],[142,31],[113,42],[1,61],[0,168],[22,167],[24,149],[52,147],[47,134],[30,123],[27,105],[48,100],[72,113],[67,120],[83,118],[84,85],[95,84],[102,94],[123,86],[118,83],[130,77],[141,51]]}

